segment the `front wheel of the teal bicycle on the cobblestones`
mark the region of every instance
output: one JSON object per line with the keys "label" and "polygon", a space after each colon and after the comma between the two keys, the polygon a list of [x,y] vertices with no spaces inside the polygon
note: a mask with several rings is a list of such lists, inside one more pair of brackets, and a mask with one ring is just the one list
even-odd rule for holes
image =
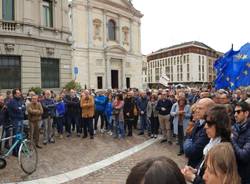
{"label": "front wheel of the teal bicycle on the cobblestones", "polygon": [[38,154],[36,146],[29,140],[24,140],[19,148],[18,162],[22,170],[27,174],[36,171]]}

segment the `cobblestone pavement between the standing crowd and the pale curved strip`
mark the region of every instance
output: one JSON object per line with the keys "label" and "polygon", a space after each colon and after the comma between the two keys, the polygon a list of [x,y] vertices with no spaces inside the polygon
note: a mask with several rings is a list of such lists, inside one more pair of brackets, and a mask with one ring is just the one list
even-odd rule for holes
{"label": "cobblestone pavement between the standing crowd and the pale curved strip", "polygon": [[16,157],[7,159],[7,167],[0,170],[0,183],[27,181],[62,174],[103,160],[125,151],[148,138],[134,136],[125,140],[113,139],[106,134],[98,134],[95,139],[82,139],[76,136],[56,139],[38,149],[37,171],[27,176],[19,167]]}

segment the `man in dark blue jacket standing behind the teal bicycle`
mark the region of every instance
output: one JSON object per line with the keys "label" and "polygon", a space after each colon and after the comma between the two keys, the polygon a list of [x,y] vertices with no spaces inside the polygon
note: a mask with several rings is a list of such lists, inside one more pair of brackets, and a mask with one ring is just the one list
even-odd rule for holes
{"label": "man in dark blue jacket standing behind the teal bicycle", "polygon": [[[21,97],[22,93],[19,89],[13,89],[12,95],[13,99],[11,99],[7,104],[7,109],[11,124],[13,125],[13,134],[16,135],[17,133],[23,132],[23,120],[26,107]],[[15,140],[13,143],[14,142]],[[17,146],[13,151],[15,156],[17,156],[18,150],[19,146]]]}

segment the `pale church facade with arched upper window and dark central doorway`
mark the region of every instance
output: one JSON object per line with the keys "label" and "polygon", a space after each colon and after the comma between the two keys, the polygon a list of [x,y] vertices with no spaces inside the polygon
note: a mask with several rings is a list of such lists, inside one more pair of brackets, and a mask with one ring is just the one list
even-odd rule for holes
{"label": "pale church facade with arched upper window and dark central doorway", "polygon": [[73,66],[83,87],[142,87],[140,19],[128,0],[72,0]]}

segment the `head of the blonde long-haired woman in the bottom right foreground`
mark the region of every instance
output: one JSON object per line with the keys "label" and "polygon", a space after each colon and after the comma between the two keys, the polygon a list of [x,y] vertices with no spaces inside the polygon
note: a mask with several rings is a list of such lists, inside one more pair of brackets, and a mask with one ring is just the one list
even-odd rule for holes
{"label": "head of the blonde long-haired woman in the bottom right foreground", "polygon": [[240,184],[236,158],[230,143],[215,145],[206,157],[206,184]]}

